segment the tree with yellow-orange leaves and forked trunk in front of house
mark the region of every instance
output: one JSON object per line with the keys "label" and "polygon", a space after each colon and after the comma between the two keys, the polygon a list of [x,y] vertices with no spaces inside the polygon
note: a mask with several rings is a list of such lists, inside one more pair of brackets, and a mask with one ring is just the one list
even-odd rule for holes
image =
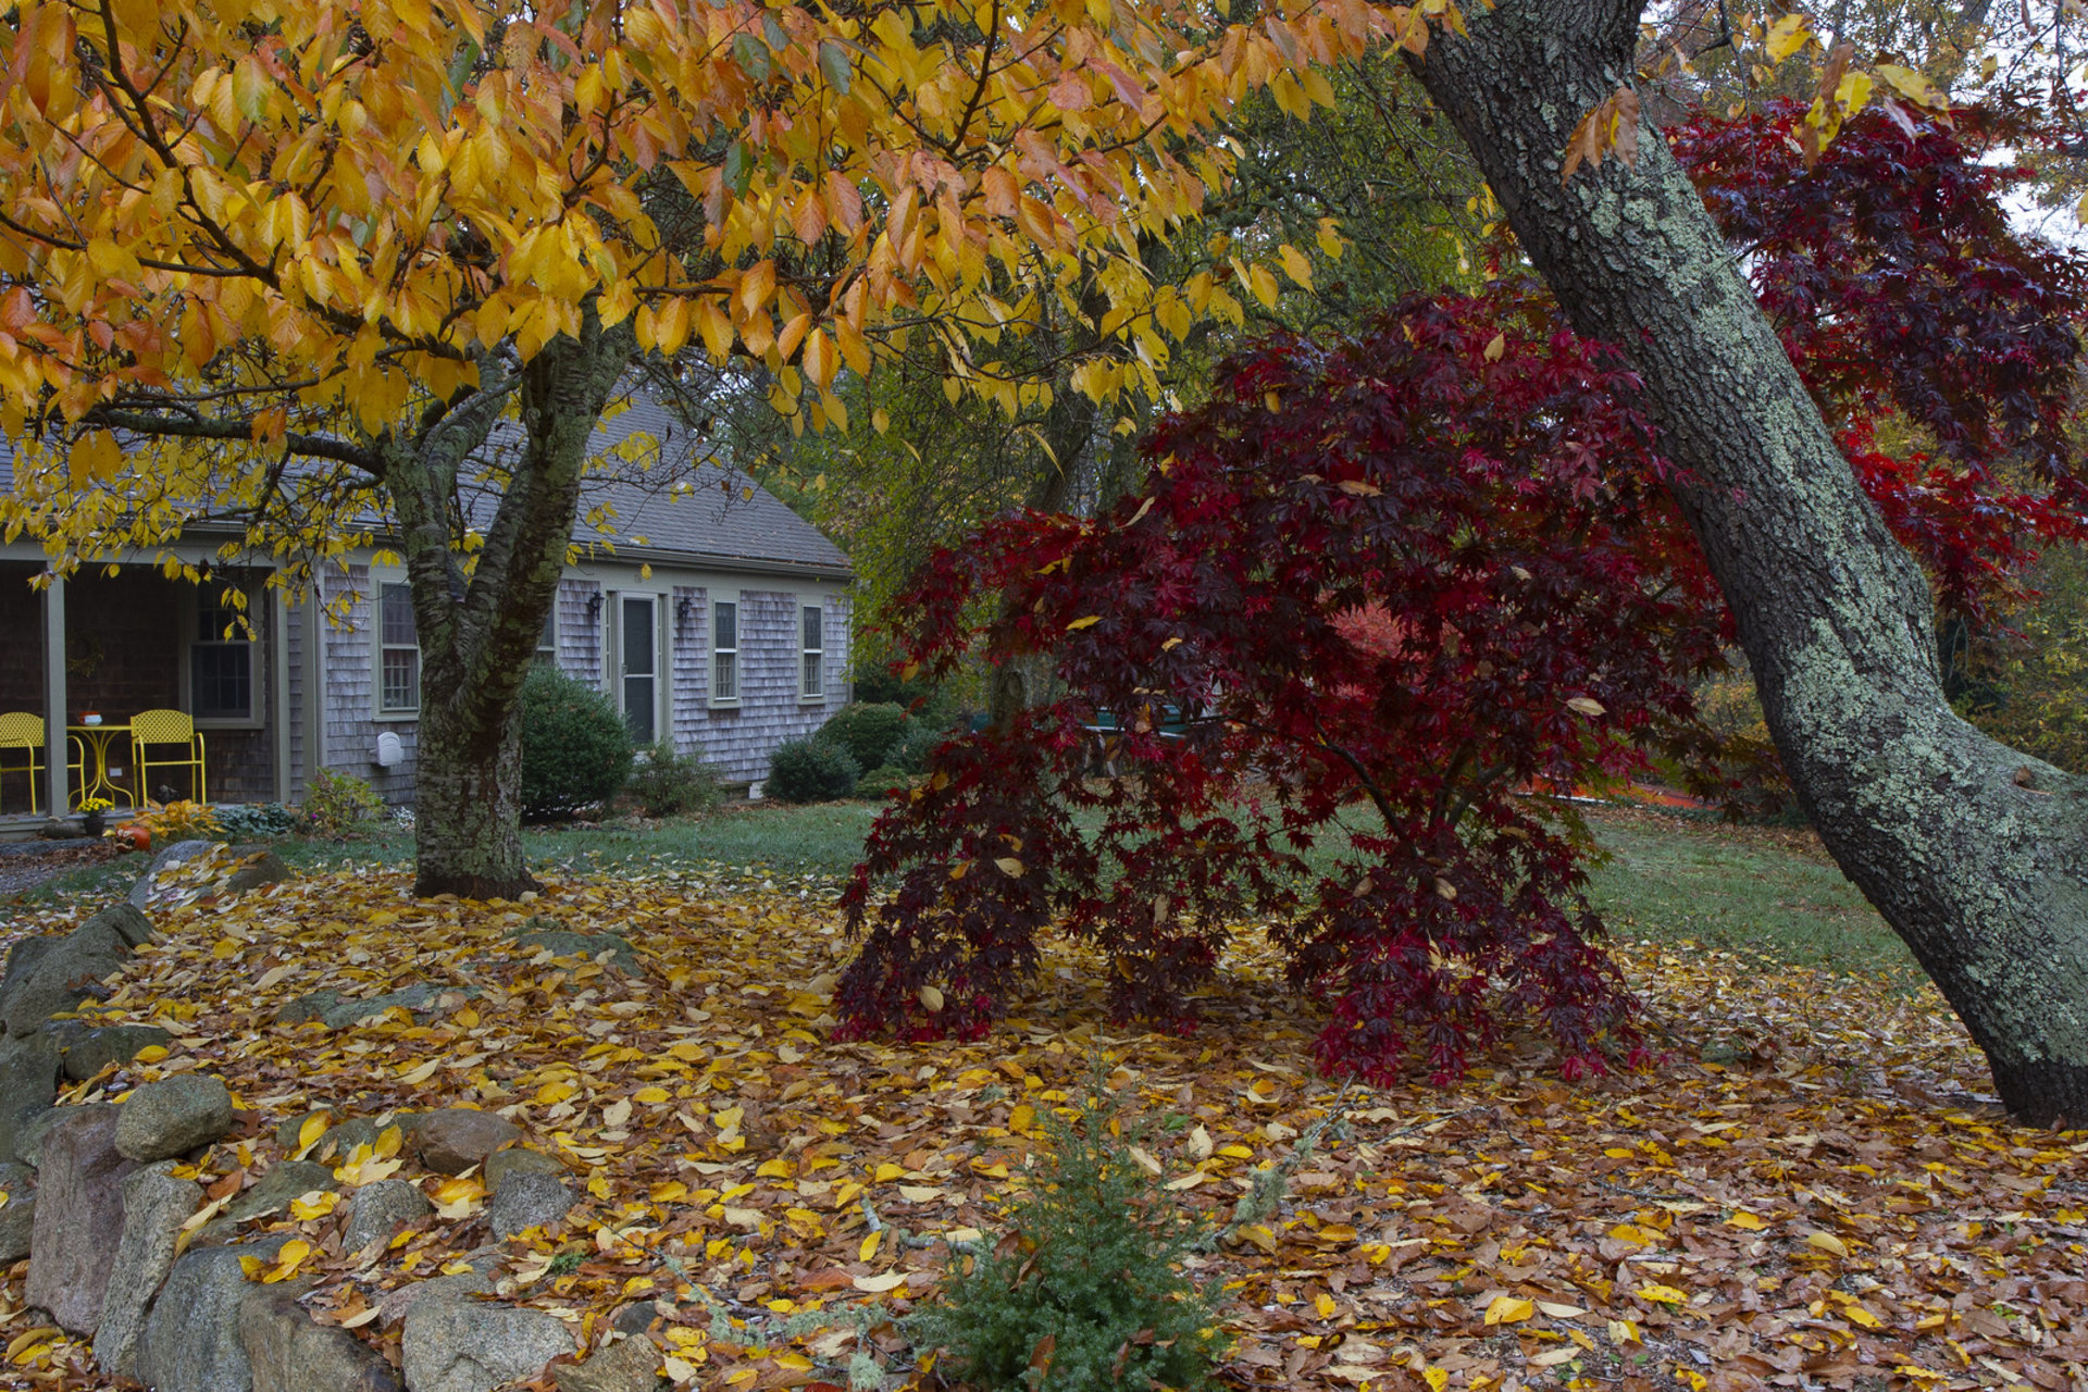
{"label": "tree with yellow-orange leaves and forked trunk in front of house", "polygon": [[[1443,8],[1445,0],[1426,0]],[[1038,305],[1096,309],[1090,397],[1146,384],[1232,286],[1153,284],[1228,171],[1244,92],[1422,10],[1336,0],[29,0],[6,17],[0,422],[8,532],[54,572],[238,520],[309,566],[388,513],[420,628],[422,893],[530,885],[516,693],[585,447],[633,363],[762,365],[779,409],[933,334],[1017,405]],[[1295,253],[1288,265],[1303,267]],[[449,499],[501,419],[482,530]],[[119,445],[121,440],[121,445]],[[303,566],[303,570],[299,568]]]}

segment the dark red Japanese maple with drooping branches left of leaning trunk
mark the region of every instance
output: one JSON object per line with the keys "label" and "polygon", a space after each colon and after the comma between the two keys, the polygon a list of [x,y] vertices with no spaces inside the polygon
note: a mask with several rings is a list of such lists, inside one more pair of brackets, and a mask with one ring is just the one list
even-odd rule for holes
{"label": "dark red Japanese maple with drooping branches left of leaning trunk", "polygon": [[[1641,770],[1718,662],[1631,388],[1505,298],[1416,301],[1230,363],[1109,518],[940,553],[904,599],[912,657],[952,666],[969,601],[1000,593],[988,653],[1052,653],[1075,695],[946,745],[881,818],[846,895],[869,929],[848,1027],[977,1031],[1054,922],[1109,954],[1121,1016],[1186,1027],[1255,918],[1332,1004],[1330,1069],[1455,1075],[1503,1014],[1570,1073],[1629,1050],[1574,847],[1516,789]],[[1125,728],[1090,783],[1100,712]],[[1324,874],[1315,839],[1340,847]]]}

